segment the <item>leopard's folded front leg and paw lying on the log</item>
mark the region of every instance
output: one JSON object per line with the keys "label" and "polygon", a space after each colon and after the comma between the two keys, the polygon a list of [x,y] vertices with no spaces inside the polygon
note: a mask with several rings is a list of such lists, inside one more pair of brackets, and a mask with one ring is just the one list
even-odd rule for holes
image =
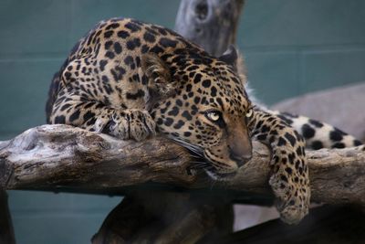
{"label": "leopard's folded front leg and paw lying on the log", "polygon": [[148,111],[112,108],[100,101],[85,100],[85,96],[79,92],[60,92],[50,122],[108,133],[122,140],[141,141],[156,134],[155,122]]}

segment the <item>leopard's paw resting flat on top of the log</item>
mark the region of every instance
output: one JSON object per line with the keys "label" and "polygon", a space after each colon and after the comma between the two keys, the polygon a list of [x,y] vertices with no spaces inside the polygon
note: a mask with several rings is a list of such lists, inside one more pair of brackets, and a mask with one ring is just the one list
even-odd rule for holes
{"label": "leopard's paw resting flat on top of the log", "polygon": [[156,125],[148,111],[115,111],[100,115],[95,122],[96,132],[108,133],[122,140],[141,141],[156,134]]}

